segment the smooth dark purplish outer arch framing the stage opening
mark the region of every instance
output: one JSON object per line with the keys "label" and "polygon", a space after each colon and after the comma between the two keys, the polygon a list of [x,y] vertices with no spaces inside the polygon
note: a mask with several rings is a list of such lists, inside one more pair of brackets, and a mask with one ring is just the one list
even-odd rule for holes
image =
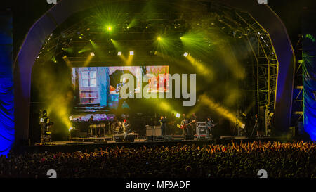
{"label": "smooth dark purplish outer arch framing the stage opening", "polygon": [[[268,5],[257,0],[214,0],[232,8],[246,11],[270,34],[279,68],[275,101],[275,127],[279,134],[287,132],[291,118],[291,101],[294,82],[294,51],[282,20]],[[117,0],[117,2],[127,2]],[[143,1],[146,3],[147,1]],[[160,1],[159,1],[160,2]],[[195,1],[196,2],[196,1]],[[204,2],[207,2],[206,0]],[[13,66],[15,90],[15,144],[29,137],[29,104],[32,66],[46,37],[74,13],[84,11],[104,1],[63,0],[47,11],[30,28]],[[58,105],[58,103],[56,103]]]}

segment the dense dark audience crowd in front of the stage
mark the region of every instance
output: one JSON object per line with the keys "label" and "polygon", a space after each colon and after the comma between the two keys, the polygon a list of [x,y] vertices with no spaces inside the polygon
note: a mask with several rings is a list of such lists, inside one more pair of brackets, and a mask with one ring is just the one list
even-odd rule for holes
{"label": "dense dark audience crowd in front of the stage", "polygon": [[99,148],[88,153],[9,153],[0,157],[0,177],[105,178],[315,178],[316,144],[239,142],[225,145]]}

